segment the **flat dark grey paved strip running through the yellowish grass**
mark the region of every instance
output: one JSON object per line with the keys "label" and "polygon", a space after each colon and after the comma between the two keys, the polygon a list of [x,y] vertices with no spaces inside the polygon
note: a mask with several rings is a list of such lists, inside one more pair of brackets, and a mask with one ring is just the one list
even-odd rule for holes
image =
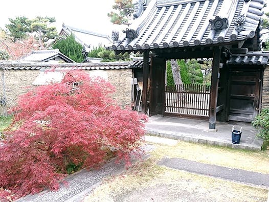
{"label": "flat dark grey paved strip running through the yellowish grass", "polygon": [[180,158],[163,159],[158,163],[158,165],[269,188],[269,174],[204,164]]}

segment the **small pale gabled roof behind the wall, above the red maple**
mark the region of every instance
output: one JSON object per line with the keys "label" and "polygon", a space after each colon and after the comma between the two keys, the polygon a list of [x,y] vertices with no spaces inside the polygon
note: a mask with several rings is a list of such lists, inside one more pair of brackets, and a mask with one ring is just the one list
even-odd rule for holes
{"label": "small pale gabled roof behind the wall, above the red maple", "polygon": [[66,62],[75,62],[69,57],[63,55],[59,49],[53,50],[41,50],[41,51],[32,51],[28,56],[24,57],[22,60],[24,61],[37,61],[37,62],[47,62],[56,57],[60,57]]}

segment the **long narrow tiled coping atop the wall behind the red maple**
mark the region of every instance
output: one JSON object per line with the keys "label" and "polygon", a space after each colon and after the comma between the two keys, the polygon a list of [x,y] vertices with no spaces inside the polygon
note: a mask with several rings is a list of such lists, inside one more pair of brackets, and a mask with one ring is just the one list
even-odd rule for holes
{"label": "long narrow tiled coping atop the wall behind the red maple", "polygon": [[124,62],[85,62],[85,63],[58,63],[48,64],[46,62],[26,62],[0,60],[0,69],[5,70],[41,70],[41,69],[61,69],[61,70],[120,70],[131,69],[132,61]]}

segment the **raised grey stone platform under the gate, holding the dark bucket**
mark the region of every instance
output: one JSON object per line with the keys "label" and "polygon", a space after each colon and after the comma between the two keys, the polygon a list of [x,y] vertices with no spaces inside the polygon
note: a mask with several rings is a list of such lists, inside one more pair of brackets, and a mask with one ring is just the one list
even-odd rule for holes
{"label": "raised grey stone platform under the gate, holding the dark bucket", "polygon": [[[146,123],[145,128],[148,134],[158,137],[239,149],[261,150],[263,141],[256,138],[257,130],[251,123],[217,122],[217,131],[210,131],[208,125],[209,122],[204,120],[156,115],[149,117],[149,121]],[[235,129],[237,130],[240,130],[240,127],[242,127],[240,144],[232,143],[231,134],[233,126],[235,126]]]}

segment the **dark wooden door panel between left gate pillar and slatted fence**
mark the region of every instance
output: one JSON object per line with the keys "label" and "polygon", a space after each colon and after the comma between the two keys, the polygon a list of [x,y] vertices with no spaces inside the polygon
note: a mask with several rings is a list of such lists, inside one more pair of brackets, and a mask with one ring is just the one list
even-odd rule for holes
{"label": "dark wooden door panel between left gate pillar and slatted fence", "polygon": [[150,64],[150,115],[163,114],[165,88],[165,60],[151,57]]}

